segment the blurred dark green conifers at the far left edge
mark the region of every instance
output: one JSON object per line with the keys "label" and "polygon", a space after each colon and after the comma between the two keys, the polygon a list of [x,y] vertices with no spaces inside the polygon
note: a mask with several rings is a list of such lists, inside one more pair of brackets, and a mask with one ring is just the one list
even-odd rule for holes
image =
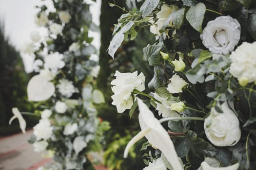
{"label": "blurred dark green conifers at the far left edge", "polygon": [[[3,24],[0,22],[0,136],[20,132],[18,120],[9,126],[9,119],[13,116],[12,107],[31,111],[32,105],[27,101],[26,86],[29,80],[20,53],[4,36]],[[27,126],[35,124],[34,117],[24,116]]]}

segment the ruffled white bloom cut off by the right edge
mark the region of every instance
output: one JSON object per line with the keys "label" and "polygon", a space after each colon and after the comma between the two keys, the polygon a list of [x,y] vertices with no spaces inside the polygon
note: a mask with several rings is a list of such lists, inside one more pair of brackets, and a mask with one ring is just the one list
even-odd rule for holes
{"label": "ruffled white bloom cut off by the right edge", "polygon": [[256,81],[256,42],[243,42],[236,51],[231,53],[230,59],[229,72],[238,79],[241,85]]}

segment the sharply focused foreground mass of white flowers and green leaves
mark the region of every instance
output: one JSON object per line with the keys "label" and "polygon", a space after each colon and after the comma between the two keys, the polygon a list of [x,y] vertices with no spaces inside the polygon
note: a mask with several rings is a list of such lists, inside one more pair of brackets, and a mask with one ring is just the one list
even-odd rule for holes
{"label": "sharply focused foreground mass of white flowers and green leaves", "polygon": [[[142,2],[140,2],[142,1]],[[149,30],[143,48],[154,67],[116,72],[111,82],[118,113],[139,109],[144,170],[253,170],[256,164],[256,2],[251,0],[137,0],[115,25],[109,54]],[[137,76],[138,75],[138,76]],[[139,98],[148,98],[145,103]],[[149,109],[154,108],[156,114]],[[156,119],[155,117],[162,117]],[[168,127],[161,124],[168,121]],[[168,129],[166,131],[166,129]],[[152,153],[155,150],[155,154]]]}

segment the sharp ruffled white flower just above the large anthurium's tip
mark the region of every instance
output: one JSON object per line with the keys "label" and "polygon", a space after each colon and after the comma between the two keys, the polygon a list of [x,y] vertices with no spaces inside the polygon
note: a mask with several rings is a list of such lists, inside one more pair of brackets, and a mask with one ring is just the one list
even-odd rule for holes
{"label": "sharp ruffled white flower just above the large anthurium's tip", "polygon": [[116,71],[114,79],[110,84],[114,95],[112,104],[117,106],[118,113],[124,112],[126,109],[130,109],[133,105],[132,92],[134,89],[143,91],[145,89],[145,76],[138,71],[133,73],[120,73]]}

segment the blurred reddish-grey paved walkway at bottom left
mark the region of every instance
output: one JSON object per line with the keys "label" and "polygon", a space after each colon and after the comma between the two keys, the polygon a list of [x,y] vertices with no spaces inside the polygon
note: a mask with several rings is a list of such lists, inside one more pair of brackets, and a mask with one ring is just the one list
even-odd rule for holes
{"label": "blurred reddish-grey paved walkway at bottom left", "polygon": [[[34,152],[33,145],[28,139],[33,131],[26,134],[16,134],[0,137],[0,170],[37,170],[51,159],[41,156],[42,153]],[[96,170],[107,170],[103,166],[95,166]]]}

